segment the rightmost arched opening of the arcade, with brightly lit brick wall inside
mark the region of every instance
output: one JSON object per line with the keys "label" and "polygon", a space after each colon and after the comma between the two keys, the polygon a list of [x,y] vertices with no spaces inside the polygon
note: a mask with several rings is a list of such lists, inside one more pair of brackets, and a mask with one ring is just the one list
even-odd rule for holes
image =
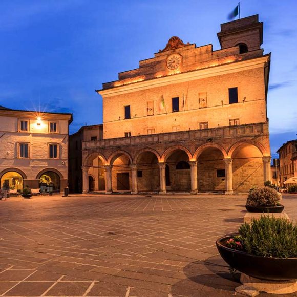
{"label": "rightmost arched opening of the arcade, with brightly lit brick wall inside", "polygon": [[242,143],[231,157],[234,190],[247,191],[252,186],[263,185],[263,155],[257,146]]}

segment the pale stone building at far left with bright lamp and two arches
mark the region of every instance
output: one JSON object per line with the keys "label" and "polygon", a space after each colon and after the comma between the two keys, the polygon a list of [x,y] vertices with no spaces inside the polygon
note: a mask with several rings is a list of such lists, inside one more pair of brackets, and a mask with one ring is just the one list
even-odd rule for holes
{"label": "pale stone building at far left with bright lamp and two arches", "polygon": [[0,184],[60,192],[68,186],[68,126],[72,114],[0,107]]}

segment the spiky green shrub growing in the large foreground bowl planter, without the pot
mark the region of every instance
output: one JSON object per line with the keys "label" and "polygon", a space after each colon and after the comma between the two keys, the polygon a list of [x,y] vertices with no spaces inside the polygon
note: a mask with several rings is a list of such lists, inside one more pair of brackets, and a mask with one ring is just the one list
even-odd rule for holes
{"label": "spiky green shrub growing in the large foreground bowl planter, without the pot", "polygon": [[262,216],[239,228],[244,251],[262,257],[297,257],[297,225],[284,218]]}

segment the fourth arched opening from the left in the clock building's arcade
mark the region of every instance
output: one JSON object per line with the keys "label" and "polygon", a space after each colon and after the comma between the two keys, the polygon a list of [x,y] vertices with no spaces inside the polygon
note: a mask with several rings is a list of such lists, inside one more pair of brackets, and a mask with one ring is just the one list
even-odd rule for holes
{"label": "fourth arched opening from the left in the clock building's arcade", "polygon": [[165,177],[166,190],[175,192],[189,192],[191,189],[191,175],[189,166],[184,165],[189,161],[187,153],[177,149],[166,158]]}

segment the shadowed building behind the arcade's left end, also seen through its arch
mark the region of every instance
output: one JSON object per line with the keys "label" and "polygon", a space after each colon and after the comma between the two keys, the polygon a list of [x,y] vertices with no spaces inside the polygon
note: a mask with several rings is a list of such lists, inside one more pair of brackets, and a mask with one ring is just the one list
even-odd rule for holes
{"label": "shadowed building behind the arcade's left end, also seen through its arch", "polygon": [[[102,139],[103,125],[83,126],[69,136],[69,190],[71,193],[82,192],[81,142],[93,141],[94,143]],[[98,162],[94,160],[94,167],[90,168],[88,180],[92,192],[105,190],[103,167],[99,168]]]}

